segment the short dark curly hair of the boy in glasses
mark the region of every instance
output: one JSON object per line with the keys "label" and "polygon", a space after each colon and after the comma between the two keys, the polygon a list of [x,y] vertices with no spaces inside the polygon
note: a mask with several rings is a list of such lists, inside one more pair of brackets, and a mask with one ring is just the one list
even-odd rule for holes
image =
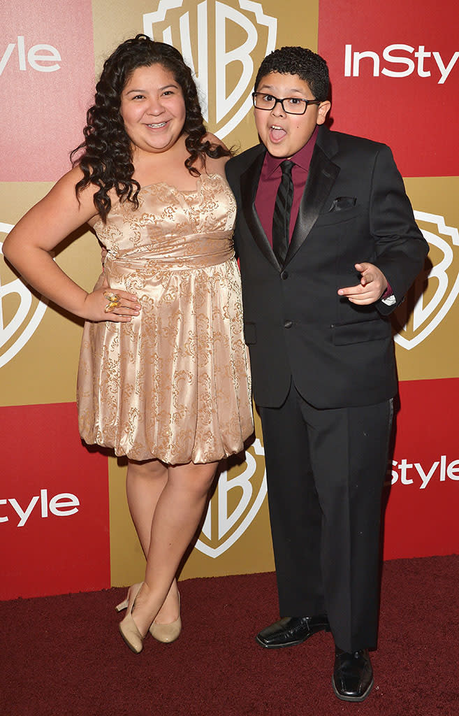
{"label": "short dark curly hair of the boy in glasses", "polygon": [[330,89],[330,77],[325,59],[305,47],[281,47],[265,57],[255,79],[255,92],[263,77],[270,72],[297,74],[307,82],[316,100],[325,102]]}

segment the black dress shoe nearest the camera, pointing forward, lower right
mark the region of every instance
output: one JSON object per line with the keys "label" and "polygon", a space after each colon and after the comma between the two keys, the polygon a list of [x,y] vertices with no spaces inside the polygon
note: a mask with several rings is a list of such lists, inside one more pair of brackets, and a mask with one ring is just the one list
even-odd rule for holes
{"label": "black dress shoe nearest the camera, pointing forward, lower right", "polygon": [[373,669],[368,649],[342,652],[336,649],[333,691],[342,701],[363,701],[373,685]]}

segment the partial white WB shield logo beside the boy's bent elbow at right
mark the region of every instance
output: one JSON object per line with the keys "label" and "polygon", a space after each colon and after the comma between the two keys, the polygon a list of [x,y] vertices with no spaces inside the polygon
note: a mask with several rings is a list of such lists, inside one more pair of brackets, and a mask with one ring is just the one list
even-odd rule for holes
{"label": "partial white WB shield logo beside the boy's bent elbow at right", "polygon": [[395,311],[395,341],[410,350],[423,342],[445,318],[459,293],[459,232],[443,216],[415,211],[430,244],[426,268]]}

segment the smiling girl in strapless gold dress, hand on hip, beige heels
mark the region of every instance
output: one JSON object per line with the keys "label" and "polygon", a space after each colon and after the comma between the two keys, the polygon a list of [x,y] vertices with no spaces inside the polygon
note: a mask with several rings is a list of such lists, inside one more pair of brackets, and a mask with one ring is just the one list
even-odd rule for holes
{"label": "smiling girl in strapless gold dress, hand on hip, beige heels", "polygon": [[[120,631],[181,628],[175,574],[218,461],[253,430],[232,245],[230,153],[203,125],[191,72],[145,35],[104,64],[74,168],[19,221],[4,254],[41,294],[82,316],[78,378],[84,440],[127,455],[127,496],[147,566]],[[87,293],[50,252],[89,223],[107,248]]]}

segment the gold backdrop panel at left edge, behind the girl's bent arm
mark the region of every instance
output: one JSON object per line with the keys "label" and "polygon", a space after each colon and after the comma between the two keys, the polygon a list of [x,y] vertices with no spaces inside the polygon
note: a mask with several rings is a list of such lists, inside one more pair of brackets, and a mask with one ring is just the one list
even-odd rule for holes
{"label": "gold backdrop panel at left edge, behind the girl's bent arm", "polygon": [[[1,223],[14,225],[50,188],[51,183],[1,183]],[[0,241],[5,236],[1,232]],[[56,250],[56,262],[77,284],[90,290],[101,270],[99,243],[86,229],[73,239],[70,236]],[[16,320],[21,316],[20,324],[1,346],[0,360],[7,362],[1,365],[0,405],[74,402],[82,321],[46,304],[40,311],[39,296],[25,284],[18,281],[9,286],[17,274],[4,261],[0,261],[0,274],[3,289],[13,289],[1,301],[3,325],[8,326],[13,316]],[[26,310],[28,301],[31,305]],[[36,330],[32,332],[34,322]]]}

